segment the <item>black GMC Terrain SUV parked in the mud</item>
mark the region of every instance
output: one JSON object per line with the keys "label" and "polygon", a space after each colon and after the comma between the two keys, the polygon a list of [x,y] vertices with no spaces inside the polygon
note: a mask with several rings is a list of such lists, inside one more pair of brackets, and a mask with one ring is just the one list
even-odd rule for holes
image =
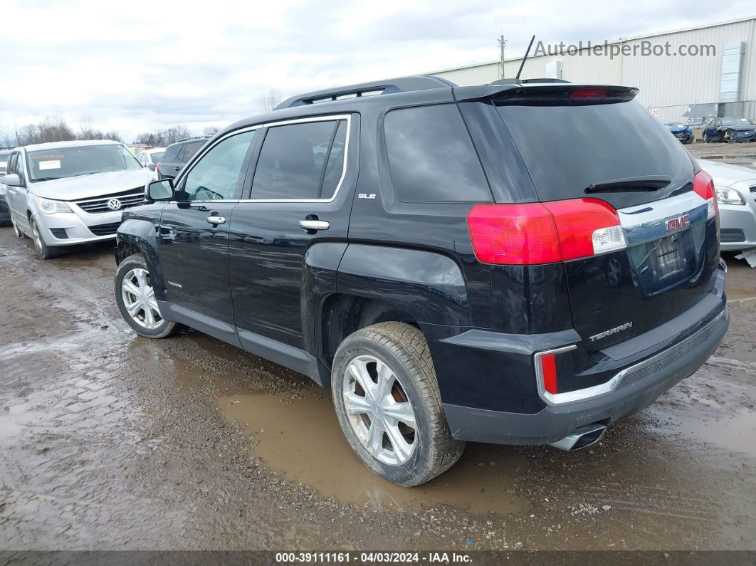
{"label": "black GMC Terrain SUV parked in the mud", "polygon": [[[215,135],[118,231],[116,302],[330,386],[383,478],[575,450],[727,331],[711,177],[634,88],[411,77]],[[321,155],[322,153],[322,155]]]}

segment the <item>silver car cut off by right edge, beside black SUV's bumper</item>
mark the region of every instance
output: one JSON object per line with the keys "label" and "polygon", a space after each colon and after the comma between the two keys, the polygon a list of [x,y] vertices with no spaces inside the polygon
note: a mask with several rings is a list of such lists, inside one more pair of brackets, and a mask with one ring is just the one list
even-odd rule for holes
{"label": "silver car cut off by right edge, beside black SUV's bumper", "polygon": [[699,163],[714,178],[721,248],[756,248],[756,169],[704,159]]}

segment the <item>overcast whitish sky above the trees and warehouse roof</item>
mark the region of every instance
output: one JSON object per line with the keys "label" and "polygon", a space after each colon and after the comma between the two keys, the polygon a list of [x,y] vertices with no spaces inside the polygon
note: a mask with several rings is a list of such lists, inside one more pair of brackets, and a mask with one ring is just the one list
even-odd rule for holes
{"label": "overcast whitish sky above the trees and warehouse roof", "polygon": [[544,43],[603,41],[756,14],[712,2],[14,2],[3,0],[0,137],[15,125],[90,119],[130,141],[259,111],[296,94],[495,60]]}

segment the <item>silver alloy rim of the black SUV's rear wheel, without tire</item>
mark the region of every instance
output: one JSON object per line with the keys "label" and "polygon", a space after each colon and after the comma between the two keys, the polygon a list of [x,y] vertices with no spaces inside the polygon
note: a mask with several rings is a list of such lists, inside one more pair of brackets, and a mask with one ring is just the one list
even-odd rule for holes
{"label": "silver alloy rim of the black SUV's rear wheel, without tire", "polygon": [[384,464],[407,462],[417,446],[417,419],[398,376],[377,357],[349,362],[342,387],[349,423],[365,449]]}

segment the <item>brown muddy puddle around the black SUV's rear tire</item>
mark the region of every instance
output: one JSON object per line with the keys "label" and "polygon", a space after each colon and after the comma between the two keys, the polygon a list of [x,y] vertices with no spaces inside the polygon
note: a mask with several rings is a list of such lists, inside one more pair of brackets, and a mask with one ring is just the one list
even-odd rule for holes
{"label": "brown muddy puddle around the black SUV's rear tire", "polygon": [[252,450],[287,479],[346,503],[396,509],[446,504],[476,514],[522,512],[513,494],[524,459],[515,449],[468,444],[459,462],[420,487],[398,487],[364,467],[342,435],[325,390],[312,388],[292,401],[265,393],[218,398],[223,415],[253,436]]}

